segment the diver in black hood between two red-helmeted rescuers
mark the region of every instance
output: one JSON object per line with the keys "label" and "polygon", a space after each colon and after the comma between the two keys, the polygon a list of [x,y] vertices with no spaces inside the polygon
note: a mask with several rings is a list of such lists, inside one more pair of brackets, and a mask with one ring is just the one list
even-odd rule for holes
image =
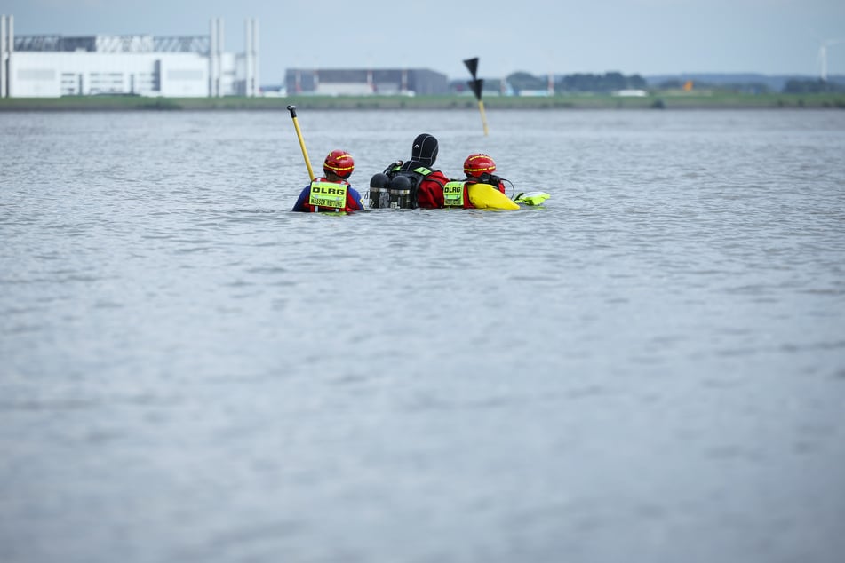
{"label": "diver in black hood between two red-helmeted rescuers", "polygon": [[411,160],[396,161],[385,169],[388,178],[408,175],[416,178],[417,187],[412,207],[441,209],[443,207],[443,186],[449,178],[441,170],[434,168],[440,144],[434,135],[420,133],[411,145]]}

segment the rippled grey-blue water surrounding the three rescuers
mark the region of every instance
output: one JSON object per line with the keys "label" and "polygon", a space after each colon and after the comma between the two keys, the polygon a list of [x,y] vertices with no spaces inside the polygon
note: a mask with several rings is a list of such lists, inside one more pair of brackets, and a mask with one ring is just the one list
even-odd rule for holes
{"label": "rippled grey-blue water surrounding the three rescuers", "polygon": [[0,560],[841,561],[845,113],[0,114]]}

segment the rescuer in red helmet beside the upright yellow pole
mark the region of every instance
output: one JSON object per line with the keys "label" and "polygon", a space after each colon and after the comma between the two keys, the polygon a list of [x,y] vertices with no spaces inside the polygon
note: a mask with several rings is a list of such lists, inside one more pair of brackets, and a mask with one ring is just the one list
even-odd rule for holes
{"label": "rescuer in red helmet beside the upright yellow pole", "polygon": [[347,151],[335,149],[323,162],[323,178],[314,178],[303,188],[291,211],[351,213],[363,210],[361,194],[347,178],[355,170],[355,160]]}

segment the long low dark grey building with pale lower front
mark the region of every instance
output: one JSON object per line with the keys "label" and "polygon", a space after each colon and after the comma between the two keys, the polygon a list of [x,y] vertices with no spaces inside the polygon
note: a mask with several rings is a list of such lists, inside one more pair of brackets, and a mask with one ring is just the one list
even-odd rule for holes
{"label": "long low dark grey building with pale lower front", "polygon": [[284,74],[288,95],[432,95],[448,94],[446,75],[425,68],[337,69],[290,68]]}

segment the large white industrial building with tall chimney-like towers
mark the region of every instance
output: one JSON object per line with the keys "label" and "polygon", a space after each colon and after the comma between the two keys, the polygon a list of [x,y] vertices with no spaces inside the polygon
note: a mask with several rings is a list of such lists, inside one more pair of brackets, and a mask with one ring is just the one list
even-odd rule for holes
{"label": "large white industrial building with tall chimney-like towers", "polygon": [[244,51],[226,52],[223,20],[208,36],[15,36],[0,17],[0,98],[96,94],[204,98],[259,93],[258,20]]}

